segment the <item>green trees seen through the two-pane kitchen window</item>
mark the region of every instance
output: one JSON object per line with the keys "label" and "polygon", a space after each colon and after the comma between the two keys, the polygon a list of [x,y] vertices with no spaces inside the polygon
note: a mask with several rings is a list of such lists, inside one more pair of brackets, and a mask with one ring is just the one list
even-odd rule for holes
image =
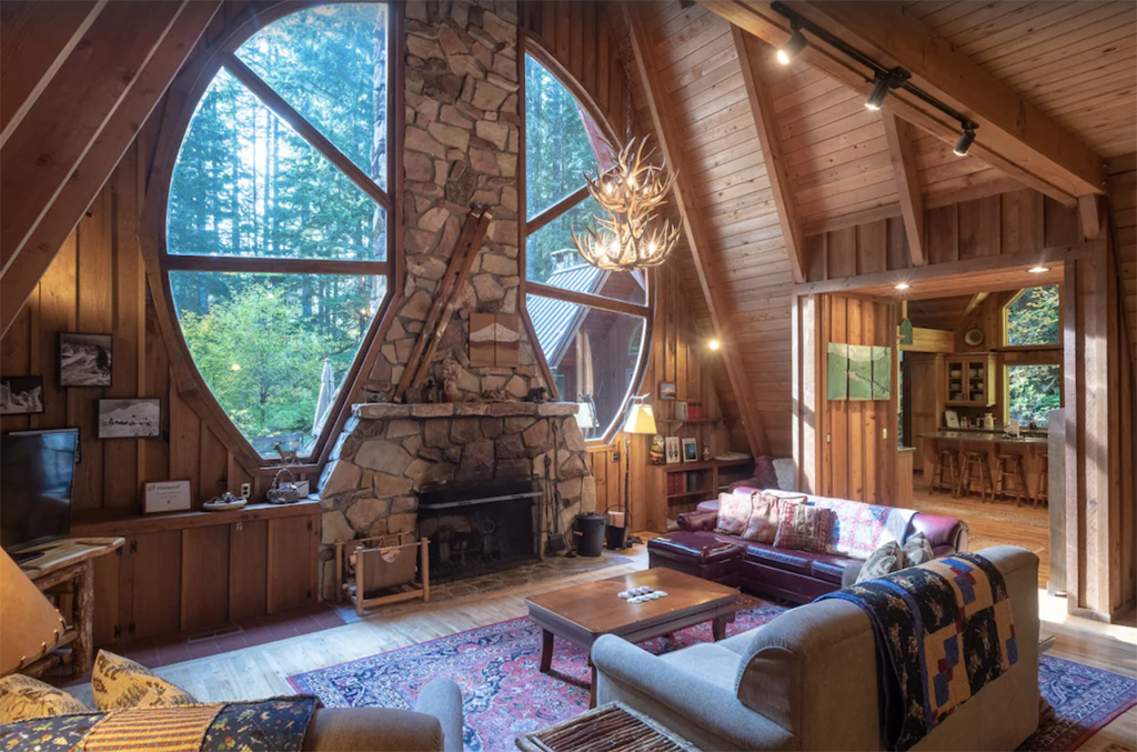
{"label": "green trees seen through the two-pane kitchen window", "polygon": [[[1061,344],[1057,286],[1024,290],[1006,309],[1006,344],[1012,347]],[[1022,425],[1048,423],[1062,406],[1062,369],[1057,365],[1007,365],[1007,418]]]}

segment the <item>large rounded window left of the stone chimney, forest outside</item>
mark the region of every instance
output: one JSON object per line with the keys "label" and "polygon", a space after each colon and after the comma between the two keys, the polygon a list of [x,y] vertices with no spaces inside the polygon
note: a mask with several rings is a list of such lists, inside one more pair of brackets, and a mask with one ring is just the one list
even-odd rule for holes
{"label": "large rounded window left of the stone chimney, forest outside", "polygon": [[173,305],[264,457],[312,454],[387,296],[391,39],[376,2],[269,23],[223,56],[175,163]]}

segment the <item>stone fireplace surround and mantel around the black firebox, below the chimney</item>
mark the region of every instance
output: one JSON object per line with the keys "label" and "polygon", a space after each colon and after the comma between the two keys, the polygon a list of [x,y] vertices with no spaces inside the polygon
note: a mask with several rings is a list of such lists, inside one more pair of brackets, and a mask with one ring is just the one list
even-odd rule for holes
{"label": "stone fireplace surround and mantel around the black firebox, below the chimney", "polygon": [[[319,480],[324,596],[335,592],[335,542],[430,532],[420,531],[420,491],[475,485],[508,488],[534,476],[540,488],[546,457],[553,468],[559,463],[559,524],[567,531],[578,513],[596,510],[596,482],[576,427],[576,407],[484,402],[356,405]],[[534,499],[534,510],[540,501]],[[539,553],[545,545],[545,532],[538,528],[542,518],[533,519]],[[551,528],[551,520],[543,527]]]}

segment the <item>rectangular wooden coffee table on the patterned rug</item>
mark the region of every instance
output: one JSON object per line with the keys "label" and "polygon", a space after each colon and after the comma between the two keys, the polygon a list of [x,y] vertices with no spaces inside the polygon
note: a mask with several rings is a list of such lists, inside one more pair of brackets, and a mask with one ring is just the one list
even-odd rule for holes
{"label": "rectangular wooden coffee table on the patterned rug", "polygon": [[[647,585],[666,590],[667,597],[628,603],[622,590]],[[566,587],[525,598],[529,618],[541,628],[541,671],[553,668],[553,637],[567,639],[589,652],[592,697],[596,706],[596,667],[592,643],[600,635],[616,635],[630,643],[670,635],[692,625],[713,623],[716,641],[727,636],[727,625],[738,611],[738,590],[673,569],[648,569],[633,575]]]}

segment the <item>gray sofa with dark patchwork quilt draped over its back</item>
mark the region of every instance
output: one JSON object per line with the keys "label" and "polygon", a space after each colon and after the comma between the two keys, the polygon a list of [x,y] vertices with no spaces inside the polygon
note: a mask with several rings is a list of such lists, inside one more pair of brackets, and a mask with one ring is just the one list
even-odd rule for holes
{"label": "gray sofa with dark patchwork quilt draped over its back", "polygon": [[[1038,557],[978,552],[1007,584],[1019,662],[914,752],[1013,752],[1038,727]],[[592,647],[598,702],[623,702],[706,752],[881,752],[872,628],[822,601],[720,643],[655,656],[614,636]]]}

